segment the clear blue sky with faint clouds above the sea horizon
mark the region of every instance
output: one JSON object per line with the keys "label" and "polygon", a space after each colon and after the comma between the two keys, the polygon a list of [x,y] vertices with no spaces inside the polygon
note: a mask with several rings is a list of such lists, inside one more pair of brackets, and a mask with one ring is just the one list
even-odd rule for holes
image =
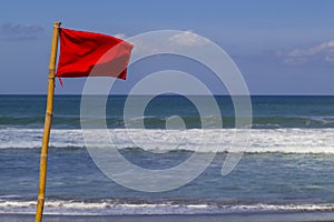
{"label": "clear blue sky with faint clouds above the sea horizon", "polygon": [[[252,94],[334,94],[333,9],[331,0],[3,0],[0,94],[46,93],[53,21],[125,37],[191,31],[230,56]],[[66,79],[56,93],[80,93],[84,82]]]}

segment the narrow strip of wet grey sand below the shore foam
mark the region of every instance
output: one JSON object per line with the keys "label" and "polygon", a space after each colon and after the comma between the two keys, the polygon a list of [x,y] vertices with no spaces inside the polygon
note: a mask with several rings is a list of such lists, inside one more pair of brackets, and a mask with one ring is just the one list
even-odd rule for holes
{"label": "narrow strip of wet grey sand below the shore foam", "polygon": [[[33,214],[0,214],[2,222],[33,221]],[[266,213],[227,213],[227,214],[129,214],[129,215],[43,215],[45,222],[325,222],[333,221],[334,212],[266,212]]]}

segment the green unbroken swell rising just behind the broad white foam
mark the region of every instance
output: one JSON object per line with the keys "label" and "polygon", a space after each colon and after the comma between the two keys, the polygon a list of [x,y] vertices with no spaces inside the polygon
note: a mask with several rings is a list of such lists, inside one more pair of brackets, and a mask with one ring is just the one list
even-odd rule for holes
{"label": "green unbroken swell rising just behind the broad white foam", "polygon": [[[199,117],[181,117],[186,123],[187,129],[200,129]],[[130,123],[144,121],[147,129],[165,128],[165,117],[141,117],[129,120]],[[204,117],[206,120],[215,120],[216,117]],[[82,119],[85,121],[85,119]],[[234,117],[222,117],[223,128],[234,128]],[[108,128],[117,129],[125,128],[122,117],[107,117]],[[0,117],[0,129],[9,127],[17,128],[41,128],[43,125],[43,117]],[[53,128],[80,128],[80,117],[59,117],[55,115],[52,119]],[[334,128],[334,117],[253,117],[253,125],[255,129],[279,129],[279,128]]]}

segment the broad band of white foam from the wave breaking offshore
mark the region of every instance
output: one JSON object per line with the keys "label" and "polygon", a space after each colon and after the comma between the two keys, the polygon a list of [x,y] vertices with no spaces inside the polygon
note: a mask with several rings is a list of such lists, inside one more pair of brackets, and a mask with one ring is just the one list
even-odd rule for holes
{"label": "broad band of white foam from the wave breaking offshore", "polygon": [[[165,130],[158,129],[110,129],[108,132],[109,134],[106,135],[102,130],[89,130],[94,147],[141,148],[157,152],[171,150],[225,152],[229,149],[234,137],[238,137],[238,133],[235,134],[235,129],[168,130],[168,134]],[[246,152],[334,153],[333,134],[334,129],[252,129]],[[0,129],[0,149],[40,148],[41,135],[40,129]],[[112,141],[102,142],[105,137],[110,137]],[[82,131],[52,129],[50,147],[84,148]]]}

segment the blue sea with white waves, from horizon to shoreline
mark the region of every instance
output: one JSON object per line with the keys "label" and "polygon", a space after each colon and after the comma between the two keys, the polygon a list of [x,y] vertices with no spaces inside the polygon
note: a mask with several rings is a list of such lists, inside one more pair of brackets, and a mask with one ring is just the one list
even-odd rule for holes
{"label": "blue sea with white waves, from horizon to shoreline", "polygon": [[[145,169],[167,169],[180,164],[194,152],[205,155],[218,151],[197,179],[167,192],[124,188],[98,169],[82,139],[80,99],[79,95],[57,95],[55,100],[46,213],[334,210],[334,97],[252,97],[248,147],[237,167],[225,176],[220,170],[235,124],[229,97],[215,98],[222,112],[220,130],[202,129],[196,107],[176,95],[151,100],[138,117],[146,129],[129,129],[124,121],[127,98],[110,97],[106,105],[108,130],[116,138],[118,151],[129,162]],[[141,99],[145,98],[138,97]],[[205,103],[206,98],[202,100]],[[0,213],[35,213],[45,108],[45,95],[0,95]],[[185,129],[175,132],[184,133],[188,140],[177,147],[170,145],[168,140],[165,143],[140,141],[148,132],[159,135],[168,118],[175,115],[185,121]],[[217,117],[205,118],[214,121]],[[134,145],[127,133],[143,145]],[[196,143],[198,133],[205,145]],[[216,137],[222,137],[222,143],[212,142]],[[100,145],[98,137],[96,144]]]}

